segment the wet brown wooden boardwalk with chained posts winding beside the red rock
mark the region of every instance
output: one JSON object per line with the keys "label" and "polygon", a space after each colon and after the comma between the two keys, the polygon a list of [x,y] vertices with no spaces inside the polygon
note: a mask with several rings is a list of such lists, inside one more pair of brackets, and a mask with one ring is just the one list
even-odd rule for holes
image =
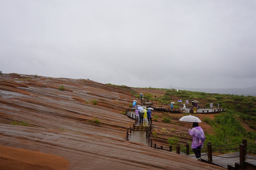
{"label": "wet brown wooden boardwalk with chained posts winding beside the red rock", "polygon": [[[152,106],[152,108],[154,108],[154,107]],[[180,113],[183,112],[182,110],[175,109],[175,108],[174,108],[174,110],[170,110],[169,108],[166,109],[166,108],[162,108],[162,107],[161,108],[155,107],[154,110],[170,111],[170,112],[171,111],[179,111]],[[222,111],[225,111],[225,110],[224,109],[206,109],[206,108],[197,109],[197,113],[202,113],[202,114],[218,113],[218,112],[222,112]],[[188,109],[188,113],[189,112],[191,112],[190,109]],[[139,142],[141,144],[151,147],[149,139],[146,138],[146,129],[151,127],[148,120],[144,121],[143,124],[140,123],[139,119],[136,119],[136,114],[133,109],[127,110],[127,116],[129,116],[131,119],[135,120],[134,126],[133,126],[134,128],[128,134],[129,141]],[[136,120],[138,120],[138,121],[136,121]],[[241,149],[241,146],[246,146],[246,144],[244,145],[244,140],[245,139],[243,139],[243,144],[242,145],[240,144],[240,151],[243,151],[245,149],[245,148]],[[245,143],[246,143],[246,140],[245,140]],[[156,146],[156,144],[155,144],[155,146]],[[158,149],[159,149],[159,147],[158,147]],[[162,146],[161,146],[161,149],[163,149]],[[187,150],[189,150],[189,149],[187,148]],[[174,151],[174,152],[176,152],[176,151]],[[195,154],[186,155],[184,152],[181,152],[180,150],[178,150],[178,152],[180,152],[181,155],[190,157],[191,159],[196,159]],[[212,153],[212,151],[209,152],[209,150],[208,150],[208,153]],[[218,156],[210,155],[209,157],[212,156],[212,161],[208,161],[207,153],[201,153],[201,159],[199,161],[206,162],[208,164],[213,164],[216,166],[221,166],[221,167],[229,169],[229,170],[237,170],[237,169],[244,169],[244,170],[255,169],[256,170],[256,157],[251,156],[251,155],[243,155],[243,158],[245,158],[245,160],[241,161],[240,160],[241,153],[233,152],[233,153],[218,155]],[[250,159],[250,158],[252,158],[252,159]],[[210,158],[209,158],[209,160],[210,160]]]}

